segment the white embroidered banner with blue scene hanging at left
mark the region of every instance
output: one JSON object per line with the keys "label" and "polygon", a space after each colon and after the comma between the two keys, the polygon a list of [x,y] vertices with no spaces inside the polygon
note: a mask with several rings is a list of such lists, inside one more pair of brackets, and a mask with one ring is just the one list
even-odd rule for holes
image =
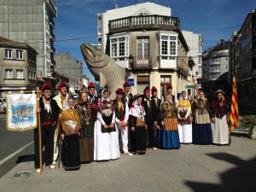
{"label": "white embroidered banner with blue scene hanging at left", "polygon": [[6,127],[9,131],[27,131],[38,126],[37,95],[8,94]]}

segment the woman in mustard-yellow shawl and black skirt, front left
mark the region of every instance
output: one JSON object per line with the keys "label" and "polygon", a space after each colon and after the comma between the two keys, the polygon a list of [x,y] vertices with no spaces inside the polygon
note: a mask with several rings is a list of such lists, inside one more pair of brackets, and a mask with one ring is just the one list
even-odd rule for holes
{"label": "woman in mustard-yellow shawl and black skirt, front left", "polygon": [[67,108],[59,115],[58,129],[62,139],[61,161],[65,170],[78,170],[80,168],[79,130],[80,118],[73,108],[73,97],[65,100]]}

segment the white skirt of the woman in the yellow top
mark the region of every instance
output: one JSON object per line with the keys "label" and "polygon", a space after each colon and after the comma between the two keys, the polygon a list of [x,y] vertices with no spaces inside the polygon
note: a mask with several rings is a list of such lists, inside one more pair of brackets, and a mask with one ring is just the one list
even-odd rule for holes
{"label": "white skirt of the woman in the yellow top", "polygon": [[177,125],[179,142],[180,143],[192,143],[192,124],[189,125]]}

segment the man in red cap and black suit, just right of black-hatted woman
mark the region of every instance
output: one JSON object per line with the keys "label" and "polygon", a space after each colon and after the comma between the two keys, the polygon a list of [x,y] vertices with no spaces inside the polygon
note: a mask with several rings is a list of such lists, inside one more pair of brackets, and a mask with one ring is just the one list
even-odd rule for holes
{"label": "man in red cap and black suit, just right of black-hatted woman", "polygon": [[146,112],[146,122],[148,126],[148,148],[152,148],[156,150],[155,148],[155,138],[154,138],[154,126],[157,125],[157,112],[155,107],[155,102],[150,98],[150,89],[148,86],[144,89],[144,99],[143,99],[143,107]]}

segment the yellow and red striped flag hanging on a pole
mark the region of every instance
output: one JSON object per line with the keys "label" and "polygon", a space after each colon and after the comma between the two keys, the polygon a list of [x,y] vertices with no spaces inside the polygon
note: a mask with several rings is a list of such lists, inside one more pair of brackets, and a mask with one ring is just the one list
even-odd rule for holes
{"label": "yellow and red striped flag hanging on a pole", "polygon": [[230,131],[239,126],[239,112],[238,112],[238,102],[236,94],[236,79],[233,78],[232,81],[232,102],[230,109]]}

